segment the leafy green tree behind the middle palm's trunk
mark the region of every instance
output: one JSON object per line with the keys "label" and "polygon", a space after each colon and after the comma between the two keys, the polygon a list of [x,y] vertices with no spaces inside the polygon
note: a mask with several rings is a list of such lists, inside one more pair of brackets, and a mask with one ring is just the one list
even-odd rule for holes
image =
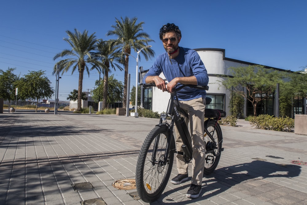
{"label": "leafy green tree behind the middle palm's trunk", "polygon": [[[99,81],[96,81],[95,85],[97,88],[93,90],[92,96],[92,99],[94,99],[96,102],[103,98],[101,91],[103,90],[104,84],[98,85],[98,83]],[[109,107],[109,104],[111,103],[122,101],[123,89],[124,85],[122,85],[122,82],[115,79],[114,75],[111,75],[108,83],[107,107]]]}

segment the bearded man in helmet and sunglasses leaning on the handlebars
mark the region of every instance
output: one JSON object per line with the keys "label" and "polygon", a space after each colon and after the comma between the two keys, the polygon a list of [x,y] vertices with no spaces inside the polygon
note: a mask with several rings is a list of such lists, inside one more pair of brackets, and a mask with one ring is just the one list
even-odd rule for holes
{"label": "bearded man in helmet and sunglasses leaning on the handlebars", "polygon": [[[195,50],[179,47],[181,31],[173,23],[167,23],[160,29],[160,39],[162,40],[165,53],[159,55],[143,78],[143,83],[155,83],[157,88],[163,92],[173,92],[177,84],[208,85],[207,70],[200,60]],[[159,77],[163,73],[168,84]],[[205,164],[205,144],[204,144],[204,111],[206,91],[185,87],[177,92],[180,107],[188,113],[186,123],[190,122],[192,137],[192,180],[186,196],[197,198],[201,192],[201,184]],[[177,151],[183,152],[182,140],[174,127],[176,135]],[[173,184],[180,184],[188,180],[188,164],[183,160],[183,156],[177,154],[178,175],[171,180]]]}

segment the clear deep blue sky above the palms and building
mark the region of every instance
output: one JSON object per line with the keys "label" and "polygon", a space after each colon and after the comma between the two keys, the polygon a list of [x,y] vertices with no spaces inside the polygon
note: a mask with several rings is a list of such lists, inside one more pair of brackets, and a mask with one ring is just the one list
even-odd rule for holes
{"label": "clear deep blue sky above the palms and building", "polygon": [[[306,0],[11,0],[0,5],[0,69],[16,68],[15,74],[21,76],[43,70],[53,88],[53,57],[70,49],[63,40],[66,30],[88,30],[107,40],[112,38],[105,34],[115,18],[126,16],[145,22],[143,31],[155,41],[150,45],[156,56],[165,51],[159,29],[173,22],[182,31],[182,47],[221,48],[228,58],[292,71],[307,65]],[[146,62],[141,56],[139,66],[149,69],[154,59]],[[131,87],[135,70],[135,59],[130,57]],[[123,82],[123,71],[111,74]],[[96,71],[89,77],[85,74],[83,91],[93,89],[98,79]],[[60,79],[60,100],[73,89],[78,89],[78,72],[68,71]]]}

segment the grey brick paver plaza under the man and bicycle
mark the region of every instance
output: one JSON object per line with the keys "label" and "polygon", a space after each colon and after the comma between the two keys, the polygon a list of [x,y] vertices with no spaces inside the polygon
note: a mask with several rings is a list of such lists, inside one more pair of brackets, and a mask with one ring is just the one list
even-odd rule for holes
{"label": "grey brick paver plaza under the man and bicycle", "polygon": [[[157,122],[62,112],[0,114],[1,204],[89,204],[99,198],[96,204],[146,204],[135,189],[112,183],[135,178],[138,152]],[[307,204],[307,166],[290,162],[307,161],[307,136],[244,125],[222,126],[222,132],[225,150],[216,171],[204,176],[200,197],[185,197],[189,182],[168,183],[157,204]],[[86,182],[94,188],[72,186]]]}

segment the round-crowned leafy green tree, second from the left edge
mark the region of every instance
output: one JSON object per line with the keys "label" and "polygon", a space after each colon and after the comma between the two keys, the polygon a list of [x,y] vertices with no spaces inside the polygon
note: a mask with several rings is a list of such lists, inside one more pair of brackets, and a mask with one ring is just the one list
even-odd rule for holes
{"label": "round-crowned leafy green tree, second from the left edge", "polygon": [[54,90],[50,86],[51,81],[44,76],[44,71],[29,72],[16,81],[16,87],[18,88],[18,96],[21,100],[36,100],[35,112],[37,112],[38,101],[44,98],[51,98]]}

